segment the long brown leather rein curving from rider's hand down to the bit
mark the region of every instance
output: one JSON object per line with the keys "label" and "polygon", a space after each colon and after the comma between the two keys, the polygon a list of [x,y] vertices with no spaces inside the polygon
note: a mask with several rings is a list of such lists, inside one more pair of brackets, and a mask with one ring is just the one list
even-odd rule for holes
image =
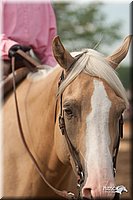
{"label": "long brown leather rein curving from rider's hand down to the bit", "polygon": [[22,123],[21,123],[21,119],[20,119],[20,113],[19,113],[19,108],[18,108],[18,100],[17,100],[17,94],[16,94],[16,84],[15,84],[15,57],[12,57],[11,59],[11,64],[12,64],[12,73],[13,73],[13,92],[14,92],[14,99],[15,99],[15,106],[16,106],[16,114],[17,114],[17,121],[18,121],[18,126],[19,126],[19,131],[20,131],[20,136],[21,136],[21,139],[22,139],[22,142],[25,146],[25,149],[26,151],[28,152],[34,166],[35,166],[35,169],[36,171],[38,172],[38,174],[40,175],[40,177],[42,178],[42,180],[46,183],[46,185],[51,188],[57,195],[63,197],[63,198],[66,198],[66,199],[71,199],[71,200],[75,200],[76,197],[73,193],[71,192],[67,192],[65,190],[63,191],[60,191],[60,190],[57,190],[56,188],[54,188],[44,177],[43,175],[43,172],[42,170],[40,169],[36,159],[34,158],[33,154],[31,153],[28,145],[27,145],[27,142],[25,140],[25,136],[24,136],[24,133],[23,133],[23,128],[22,128]]}

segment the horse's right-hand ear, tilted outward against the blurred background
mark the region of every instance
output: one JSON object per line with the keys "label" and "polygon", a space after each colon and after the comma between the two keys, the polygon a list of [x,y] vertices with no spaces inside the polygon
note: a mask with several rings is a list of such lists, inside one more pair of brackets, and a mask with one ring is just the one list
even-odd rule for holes
{"label": "horse's right-hand ear, tilted outward against the blurred background", "polygon": [[119,63],[126,57],[133,35],[127,36],[122,45],[111,55],[106,57],[108,63],[116,69]]}

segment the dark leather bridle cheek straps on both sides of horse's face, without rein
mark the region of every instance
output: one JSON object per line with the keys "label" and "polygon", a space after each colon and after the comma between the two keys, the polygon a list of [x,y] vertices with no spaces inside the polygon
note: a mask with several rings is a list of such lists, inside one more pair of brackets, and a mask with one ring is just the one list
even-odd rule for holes
{"label": "dark leather bridle cheek straps on both sides of horse's face, without rein", "polygon": [[[65,80],[65,76],[64,76],[64,71],[62,71],[61,76],[60,76],[60,81],[58,83],[58,87],[61,85],[61,83]],[[77,171],[77,175],[78,175],[78,183],[77,186],[79,185],[79,197],[80,197],[80,189],[81,189],[81,184],[84,182],[84,171],[83,171],[83,167],[80,161],[80,157],[79,157],[79,152],[76,150],[76,148],[73,146],[73,144],[71,143],[71,140],[67,134],[67,130],[66,130],[66,126],[65,126],[65,118],[64,118],[64,111],[63,111],[63,104],[62,104],[62,96],[63,94],[61,93],[60,95],[60,115],[59,115],[59,127],[61,129],[62,135],[65,136],[68,148],[69,148],[69,152],[73,158],[73,161],[75,163],[75,168]],[[119,146],[120,146],[120,139],[123,138],[123,116],[121,114],[120,119],[119,119],[119,131],[118,131],[118,138],[115,141],[115,145],[113,147],[113,157],[112,157],[112,161],[113,161],[113,173],[114,173],[114,177],[116,174],[116,161],[117,161],[117,155],[118,155],[118,151],[119,151]],[[79,198],[80,199],[80,198]],[[119,195],[116,194],[114,197],[114,200],[118,200],[119,199]]]}

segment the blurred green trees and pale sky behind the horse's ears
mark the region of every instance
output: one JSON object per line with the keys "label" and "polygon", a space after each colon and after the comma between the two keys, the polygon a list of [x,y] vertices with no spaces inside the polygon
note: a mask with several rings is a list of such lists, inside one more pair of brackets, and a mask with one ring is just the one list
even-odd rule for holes
{"label": "blurred green trees and pale sky behind the horse's ears", "polygon": [[[108,55],[129,33],[130,5],[99,1],[53,1],[58,35],[69,51],[96,48]],[[117,17],[118,16],[118,17]],[[123,18],[120,18],[123,16]],[[114,20],[111,20],[114,17]],[[124,29],[126,31],[124,31]],[[126,35],[125,35],[126,34]],[[130,90],[130,59],[117,70],[124,87]]]}

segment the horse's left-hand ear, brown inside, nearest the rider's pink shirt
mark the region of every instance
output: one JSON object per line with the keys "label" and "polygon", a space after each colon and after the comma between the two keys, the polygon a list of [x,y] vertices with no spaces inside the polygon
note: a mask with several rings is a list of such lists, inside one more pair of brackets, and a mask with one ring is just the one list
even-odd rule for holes
{"label": "horse's left-hand ear, brown inside, nearest the rider's pink shirt", "polygon": [[59,63],[59,65],[63,67],[65,70],[69,70],[71,65],[74,63],[75,59],[64,48],[59,36],[56,36],[53,39],[52,48],[54,57],[56,61]]}

